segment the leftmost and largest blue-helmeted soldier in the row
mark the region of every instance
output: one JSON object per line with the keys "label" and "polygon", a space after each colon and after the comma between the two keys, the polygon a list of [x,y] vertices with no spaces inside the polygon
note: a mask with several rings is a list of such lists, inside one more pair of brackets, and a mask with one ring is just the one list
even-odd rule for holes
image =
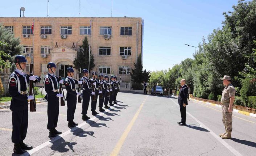
{"label": "leftmost and largest blue-helmeted soldier in the row", "polygon": [[28,100],[33,100],[34,96],[28,96],[26,90],[30,80],[39,82],[38,76],[29,76],[23,73],[26,69],[26,58],[17,55],[14,60],[16,69],[9,77],[9,93],[12,96],[10,109],[12,110],[12,142],[14,143],[13,152],[24,153],[24,150],[32,149],[23,142],[28,130]]}

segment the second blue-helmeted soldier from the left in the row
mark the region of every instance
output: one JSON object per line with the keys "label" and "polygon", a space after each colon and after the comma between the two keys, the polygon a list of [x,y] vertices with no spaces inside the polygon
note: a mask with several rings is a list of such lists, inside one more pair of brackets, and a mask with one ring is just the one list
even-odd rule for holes
{"label": "second blue-helmeted soldier from the left in the row", "polygon": [[49,136],[55,137],[57,134],[62,134],[62,132],[57,131],[58,117],[59,117],[59,97],[63,97],[63,94],[58,92],[58,83],[63,84],[63,80],[55,76],[56,65],[52,62],[47,64],[48,74],[45,75],[44,88],[47,93],[45,99],[48,102],[47,115],[48,123],[47,129],[49,130]]}

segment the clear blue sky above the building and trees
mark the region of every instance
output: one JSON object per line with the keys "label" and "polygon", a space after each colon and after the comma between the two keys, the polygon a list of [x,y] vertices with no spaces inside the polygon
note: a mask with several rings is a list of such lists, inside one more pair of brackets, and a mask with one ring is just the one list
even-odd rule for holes
{"label": "clear blue sky above the building and trees", "polygon": [[[222,28],[223,12],[238,0],[113,0],[113,17],[144,21],[143,67],[165,70],[186,58],[213,29]],[[47,0],[0,0],[0,17],[46,17]],[[49,0],[50,17],[79,17],[79,0]],[[111,17],[111,0],[80,0],[80,17]]]}

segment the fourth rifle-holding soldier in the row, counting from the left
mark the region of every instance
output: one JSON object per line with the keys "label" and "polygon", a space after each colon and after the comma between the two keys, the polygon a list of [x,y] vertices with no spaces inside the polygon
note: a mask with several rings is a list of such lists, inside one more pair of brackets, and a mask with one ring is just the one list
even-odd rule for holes
{"label": "fourth rifle-holding soldier in the row, counting from the left", "polygon": [[82,120],[86,121],[90,119],[90,117],[87,116],[87,111],[90,103],[90,97],[91,97],[91,80],[88,79],[88,70],[83,69],[82,70],[83,77],[81,81],[83,82],[83,91],[82,91],[82,98],[83,98],[83,103],[82,103]]}

